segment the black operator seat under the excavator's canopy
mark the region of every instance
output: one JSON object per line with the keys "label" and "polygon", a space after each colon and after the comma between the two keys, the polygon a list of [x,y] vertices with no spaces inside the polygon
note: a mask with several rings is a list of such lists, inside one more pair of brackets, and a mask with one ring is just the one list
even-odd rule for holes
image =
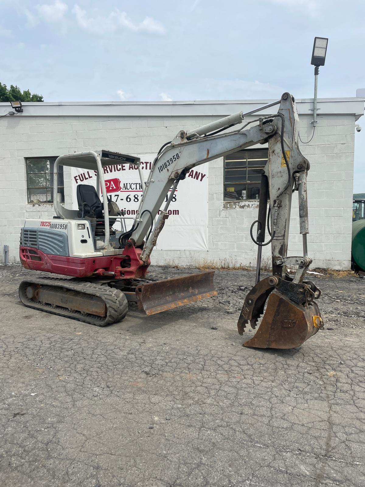
{"label": "black operator seat under the excavator's canopy", "polygon": [[[96,192],[96,189],[93,186],[88,184],[77,185],[76,197],[77,197],[77,205],[80,211],[81,218],[96,218],[97,221],[95,227],[95,236],[104,235],[105,222],[103,216],[103,205]],[[115,223],[115,218],[110,218],[109,219],[110,234],[113,233],[111,227],[114,225],[114,223]]]}

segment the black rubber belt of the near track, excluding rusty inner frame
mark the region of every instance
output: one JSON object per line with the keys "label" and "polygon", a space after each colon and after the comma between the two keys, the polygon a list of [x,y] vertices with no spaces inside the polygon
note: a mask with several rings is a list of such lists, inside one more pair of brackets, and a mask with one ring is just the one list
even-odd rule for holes
{"label": "black rubber belt of the near track, excluding rusty inner frame", "polygon": [[[79,293],[89,294],[91,299],[94,296],[98,296],[105,302],[107,306],[107,316],[103,318],[92,314],[82,314],[80,311],[69,311],[61,306],[37,303],[27,298],[25,294],[26,283],[63,287]],[[21,289],[22,287],[24,288],[23,290]],[[75,282],[73,279],[26,279],[21,281],[19,285],[19,298],[21,302],[28,308],[42,310],[46,313],[63,316],[65,318],[77,319],[78,321],[84,321],[85,323],[96,326],[106,326],[111,323],[115,323],[116,321],[120,321],[125,318],[128,312],[128,301],[125,295],[119,291],[119,289],[93,284],[87,281]]]}

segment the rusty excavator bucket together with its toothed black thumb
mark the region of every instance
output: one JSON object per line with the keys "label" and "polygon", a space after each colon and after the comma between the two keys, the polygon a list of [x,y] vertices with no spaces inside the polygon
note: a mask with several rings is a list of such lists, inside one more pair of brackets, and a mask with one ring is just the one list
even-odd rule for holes
{"label": "rusty excavator bucket together with its toothed black thumb", "polygon": [[243,304],[237,327],[240,335],[248,322],[256,328],[258,318],[267,307],[254,337],[245,347],[290,349],[299,347],[323,327],[317,304],[320,291],[310,282],[300,284],[276,276],[257,283]]}

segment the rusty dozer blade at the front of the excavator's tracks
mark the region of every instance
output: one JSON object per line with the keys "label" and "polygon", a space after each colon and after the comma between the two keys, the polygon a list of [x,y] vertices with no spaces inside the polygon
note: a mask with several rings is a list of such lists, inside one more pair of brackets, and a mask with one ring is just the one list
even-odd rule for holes
{"label": "rusty dozer blade at the front of the excavator's tracks", "polygon": [[140,284],[136,288],[137,304],[146,315],[217,296],[214,271]]}

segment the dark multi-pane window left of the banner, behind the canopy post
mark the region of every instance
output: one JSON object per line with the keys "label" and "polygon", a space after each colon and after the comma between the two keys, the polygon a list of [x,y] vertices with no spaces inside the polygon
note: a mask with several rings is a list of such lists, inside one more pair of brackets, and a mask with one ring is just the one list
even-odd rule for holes
{"label": "dark multi-pane window left of the banner, behind the canopy post", "polygon": [[[56,157],[32,157],[25,159],[27,170],[28,203],[53,203],[53,168]],[[63,166],[58,166],[58,190],[60,201],[65,201]]]}

